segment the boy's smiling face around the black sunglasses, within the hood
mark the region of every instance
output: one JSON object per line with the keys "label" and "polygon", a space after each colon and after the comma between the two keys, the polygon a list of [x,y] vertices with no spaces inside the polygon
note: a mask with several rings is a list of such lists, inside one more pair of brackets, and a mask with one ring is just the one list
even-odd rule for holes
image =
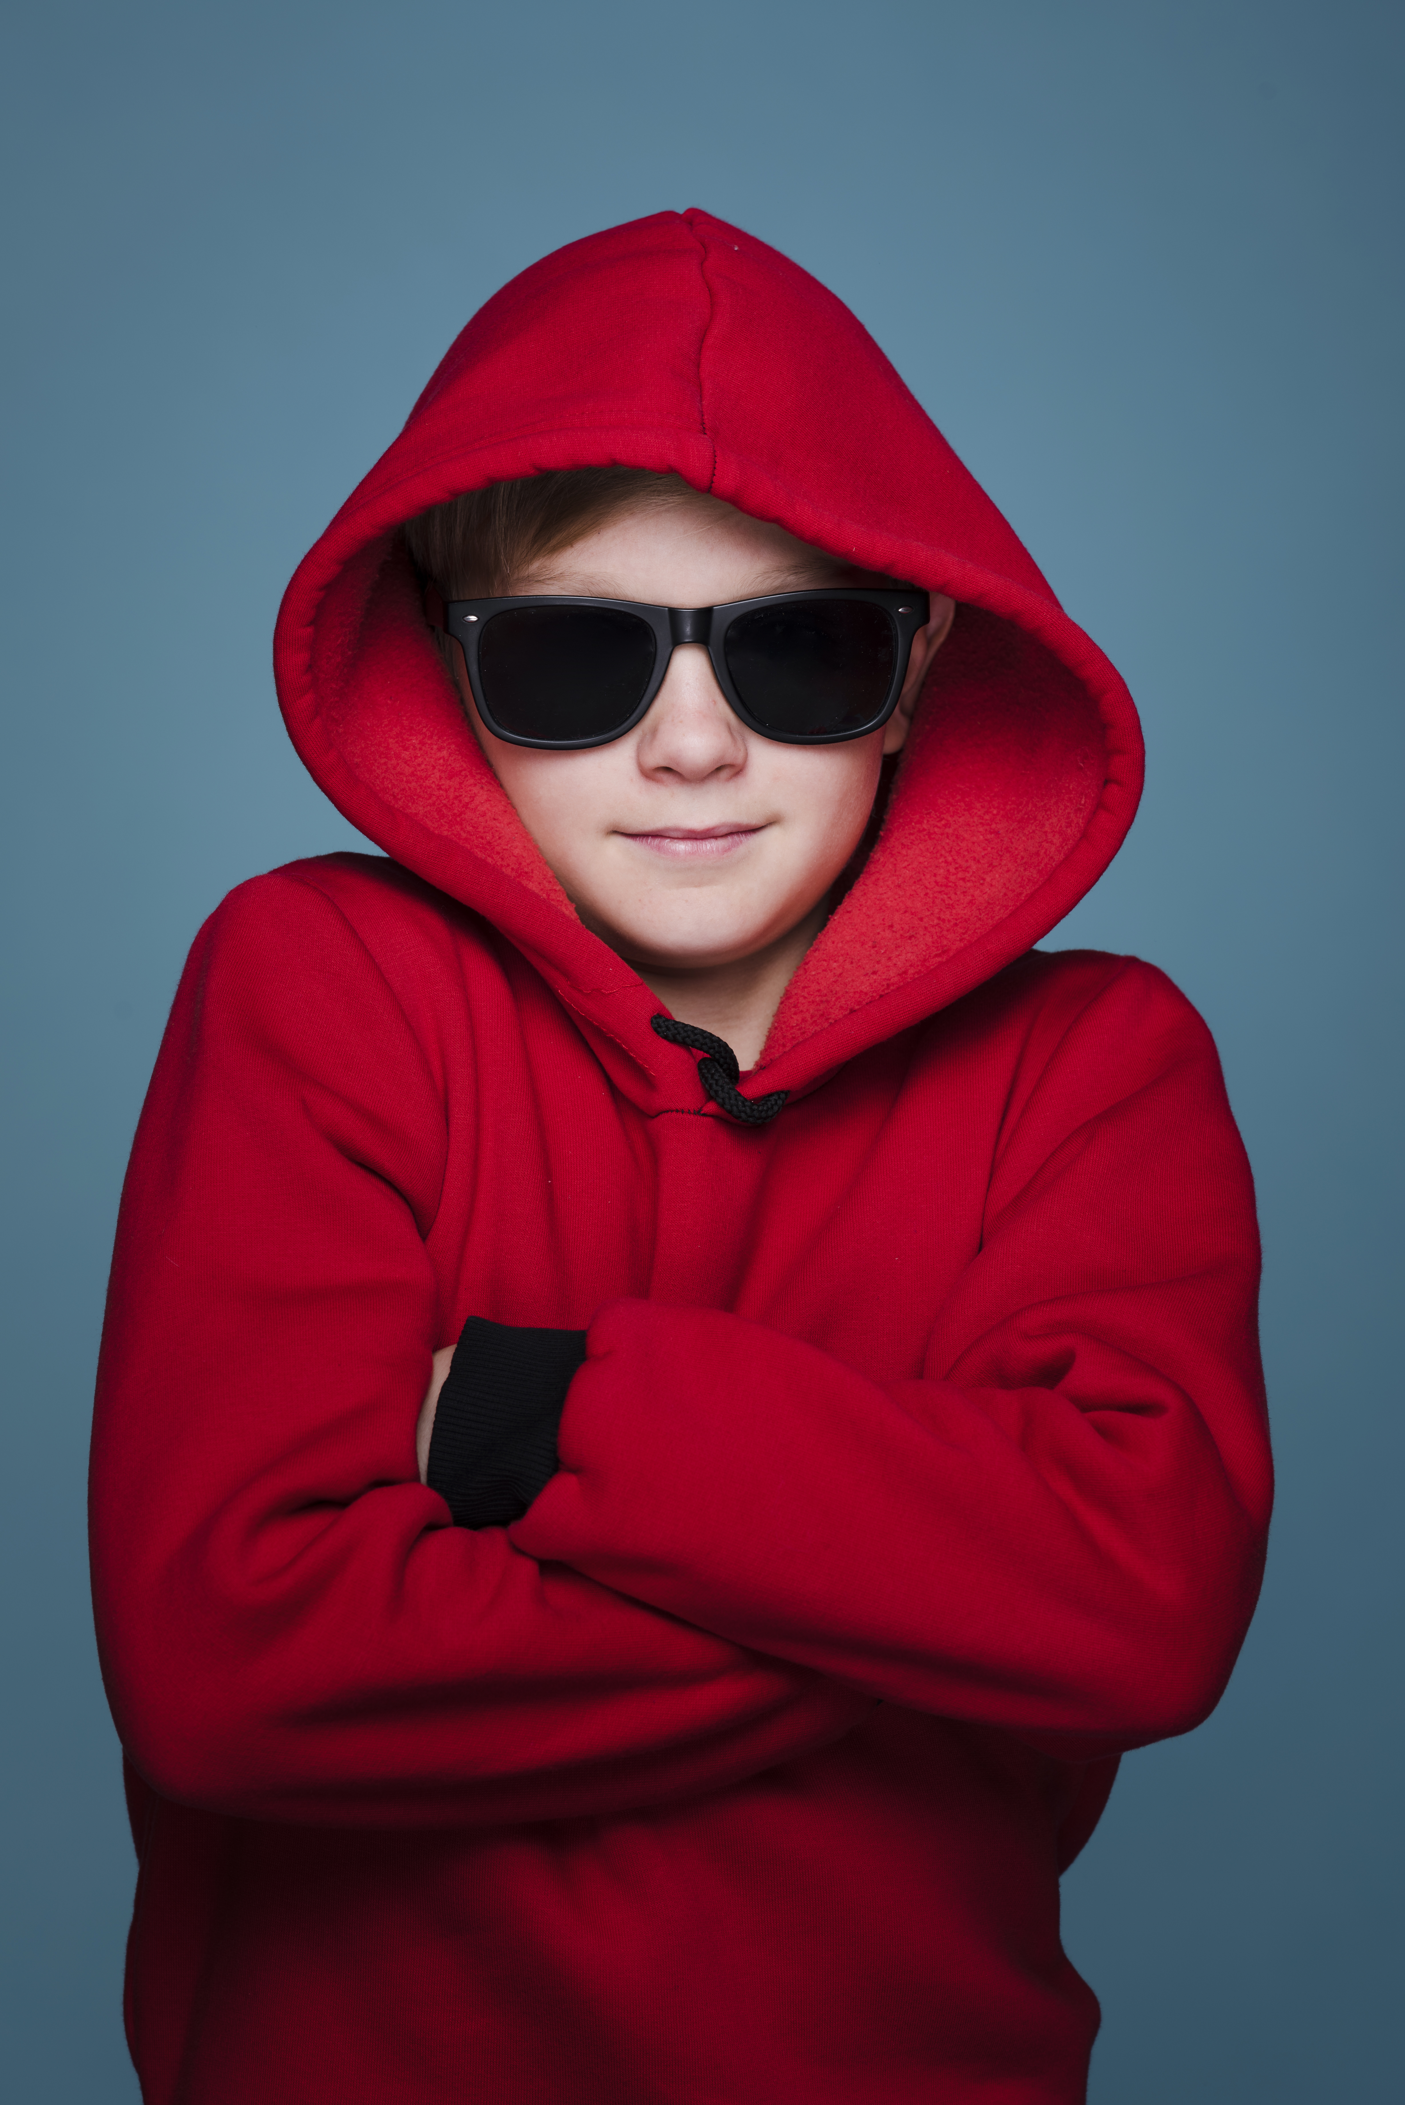
{"label": "boy's smiling face around the black sunglasses, within the hood", "polygon": [[[718,606],[866,581],[714,501],[624,512],[508,589]],[[457,669],[478,743],[581,922],[645,975],[706,970],[765,951],[811,918],[819,924],[950,617],[952,602],[933,594],[897,709],[847,745],[779,745],[748,730],[699,644],[674,648],[634,730],[567,754],[493,737],[461,661]]]}

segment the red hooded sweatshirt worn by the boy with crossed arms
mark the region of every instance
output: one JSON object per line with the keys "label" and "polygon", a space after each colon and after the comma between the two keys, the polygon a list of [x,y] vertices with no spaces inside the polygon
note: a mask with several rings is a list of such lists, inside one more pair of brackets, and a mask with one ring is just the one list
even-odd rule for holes
{"label": "red hooded sweatshirt worn by the boy with crossed arms", "polygon": [[[961,602],[760,1126],[575,918],[396,539],[600,461]],[[390,861],[204,926],[122,1200],[93,1575],[145,2099],[1081,2099],[1060,1867],[1220,1697],[1270,1499],[1209,1034],[1030,947],[1131,823],[1119,676],[853,316],[695,210],[489,301],[276,669]],[[468,1316],[588,1328],[510,1528],[415,1469]]]}

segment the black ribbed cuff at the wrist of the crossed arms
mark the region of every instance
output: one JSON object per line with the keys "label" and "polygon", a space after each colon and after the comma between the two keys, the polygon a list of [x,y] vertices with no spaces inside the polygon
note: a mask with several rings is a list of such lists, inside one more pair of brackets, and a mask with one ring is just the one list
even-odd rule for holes
{"label": "black ribbed cuff at the wrist of the crossed arms", "polygon": [[556,1476],[556,1431],[583,1330],[529,1330],[470,1316],[438,1391],[430,1490],[459,1528],[506,1528]]}

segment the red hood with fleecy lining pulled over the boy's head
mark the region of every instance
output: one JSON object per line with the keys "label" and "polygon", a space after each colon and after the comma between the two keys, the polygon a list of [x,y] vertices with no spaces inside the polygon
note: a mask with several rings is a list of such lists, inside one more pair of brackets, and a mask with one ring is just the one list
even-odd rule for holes
{"label": "red hood with fleecy lining pulled over the boy's head", "polygon": [[590,935],[463,720],[396,528],[558,467],[672,469],[870,570],[946,592],[883,827],[760,1059],[813,1086],[1022,956],[1131,825],[1131,697],[872,337],[815,278],[708,213],[655,213],[533,263],[430,379],[286,589],[278,699],[362,834],[484,914],[586,1025],[617,1086],[672,1095],[659,1002]]}

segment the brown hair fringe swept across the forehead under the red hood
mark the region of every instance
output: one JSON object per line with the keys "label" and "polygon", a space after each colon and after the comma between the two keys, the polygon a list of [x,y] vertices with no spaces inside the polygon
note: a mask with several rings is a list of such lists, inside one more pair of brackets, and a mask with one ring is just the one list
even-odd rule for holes
{"label": "brown hair fringe swept across the forehead under the red hood", "polygon": [[533,564],[558,556],[617,512],[636,505],[712,503],[682,476],[647,467],[558,467],[518,482],[491,482],[404,526],[415,568],[444,600],[489,600]]}

